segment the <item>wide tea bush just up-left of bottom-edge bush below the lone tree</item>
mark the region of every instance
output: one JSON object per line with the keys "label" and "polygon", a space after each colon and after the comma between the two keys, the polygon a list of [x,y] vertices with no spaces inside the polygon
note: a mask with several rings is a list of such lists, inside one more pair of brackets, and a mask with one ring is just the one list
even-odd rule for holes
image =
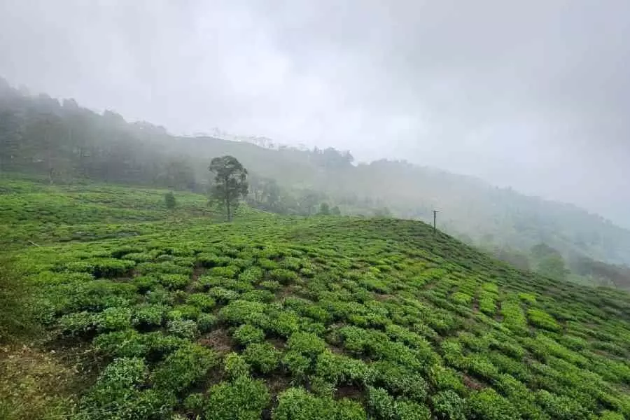
{"label": "wide tea bush just up-left of bottom-edge bush below the lone tree", "polygon": [[200,381],[219,363],[215,351],[197,344],[188,344],[169,355],[153,372],[153,384],[158,388],[181,393]]}

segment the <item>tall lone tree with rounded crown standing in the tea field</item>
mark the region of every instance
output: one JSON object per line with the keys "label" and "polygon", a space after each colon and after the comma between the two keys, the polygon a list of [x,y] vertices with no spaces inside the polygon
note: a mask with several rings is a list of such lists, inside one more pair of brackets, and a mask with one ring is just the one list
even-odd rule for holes
{"label": "tall lone tree with rounded crown standing in the tea field", "polygon": [[232,221],[232,214],[237,209],[240,200],[247,195],[247,169],[237,158],[226,155],[214,158],[210,162],[210,172],[214,174],[214,186],[210,195],[225,206],[228,221]]}

